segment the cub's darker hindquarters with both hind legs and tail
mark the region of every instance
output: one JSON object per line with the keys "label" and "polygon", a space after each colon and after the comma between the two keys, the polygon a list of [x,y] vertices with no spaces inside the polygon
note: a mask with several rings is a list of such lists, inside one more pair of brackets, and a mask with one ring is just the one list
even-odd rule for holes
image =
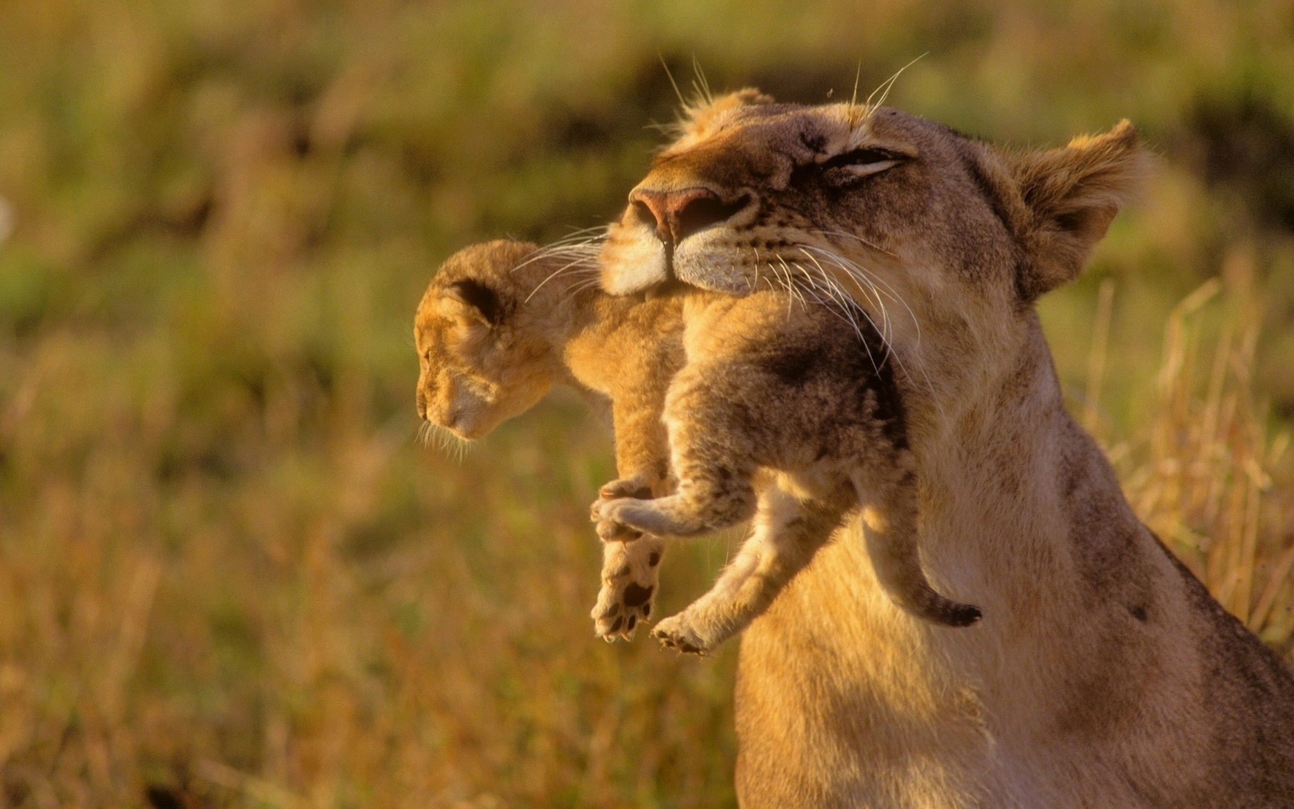
{"label": "cub's darker hindquarters with both hind legs and tail", "polygon": [[980,610],[936,593],[917,554],[916,462],[880,334],[787,290],[685,296],[687,364],[665,397],[674,494],[594,504],[620,526],[690,536],[753,516],[714,588],[653,634],[705,652],[763,612],[857,505],[876,577],[902,608],[967,626]]}

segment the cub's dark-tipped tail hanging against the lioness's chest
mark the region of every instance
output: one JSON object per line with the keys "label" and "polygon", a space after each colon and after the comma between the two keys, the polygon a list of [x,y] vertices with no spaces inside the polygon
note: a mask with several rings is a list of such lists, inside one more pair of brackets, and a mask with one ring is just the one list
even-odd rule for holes
{"label": "cub's dark-tipped tail hanging against the lioness's chest", "polygon": [[864,504],[863,535],[876,580],[901,608],[945,626],[969,626],[980,620],[980,608],[934,592],[917,550],[916,463],[908,449],[850,474],[858,498]]}

